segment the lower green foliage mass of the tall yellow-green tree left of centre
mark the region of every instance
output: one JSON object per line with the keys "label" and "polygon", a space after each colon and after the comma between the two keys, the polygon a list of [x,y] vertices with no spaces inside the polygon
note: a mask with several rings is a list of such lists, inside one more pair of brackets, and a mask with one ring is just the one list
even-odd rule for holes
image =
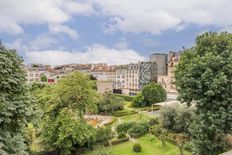
{"label": "lower green foliage mass of the tall yellow-green tree left of centre", "polygon": [[45,144],[61,149],[63,154],[70,154],[75,145],[83,146],[92,141],[94,129],[79,115],[64,108],[55,118],[46,117],[42,136]]}

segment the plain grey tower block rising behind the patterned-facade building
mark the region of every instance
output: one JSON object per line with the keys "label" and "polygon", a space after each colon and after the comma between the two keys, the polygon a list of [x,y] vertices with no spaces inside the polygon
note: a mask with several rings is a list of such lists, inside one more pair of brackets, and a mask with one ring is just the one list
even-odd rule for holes
{"label": "plain grey tower block rising behind the patterned-facade building", "polygon": [[154,53],[150,55],[149,60],[157,64],[158,75],[167,75],[167,54]]}

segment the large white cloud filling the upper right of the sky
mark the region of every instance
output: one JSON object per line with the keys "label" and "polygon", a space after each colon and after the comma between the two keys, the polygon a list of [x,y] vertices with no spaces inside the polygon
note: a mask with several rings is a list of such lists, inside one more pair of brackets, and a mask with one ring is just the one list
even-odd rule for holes
{"label": "large white cloud filling the upper right of the sky", "polygon": [[200,26],[232,25],[230,0],[90,0],[101,14],[111,17],[105,32],[148,32],[168,29],[180,31],[190,24]]}

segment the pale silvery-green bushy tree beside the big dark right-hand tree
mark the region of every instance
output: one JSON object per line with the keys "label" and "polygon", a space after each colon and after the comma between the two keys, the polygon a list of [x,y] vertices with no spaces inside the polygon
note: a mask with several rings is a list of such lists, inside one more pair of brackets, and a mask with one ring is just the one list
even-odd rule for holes
{"label": "pale silvery-green bushy tree beside the big dark right-hand tree", "polygon": [[163,106],[159,114],[161,126],[175,133],[188,133],[195,117],[194,108],[178,104]]}

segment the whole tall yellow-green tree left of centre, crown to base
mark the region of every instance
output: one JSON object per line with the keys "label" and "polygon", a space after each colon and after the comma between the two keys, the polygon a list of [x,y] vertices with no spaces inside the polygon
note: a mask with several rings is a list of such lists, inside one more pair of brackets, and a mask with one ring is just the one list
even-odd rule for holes
{"label": "whole tall yellow-green tree left of centre, crown to base", "polygon": [[95,131],[83,118],[87,111],[96,110],[98,94],[92,86],[88,75],[76,72],[51,87],[42,137],[61,154],[93,141]]}

